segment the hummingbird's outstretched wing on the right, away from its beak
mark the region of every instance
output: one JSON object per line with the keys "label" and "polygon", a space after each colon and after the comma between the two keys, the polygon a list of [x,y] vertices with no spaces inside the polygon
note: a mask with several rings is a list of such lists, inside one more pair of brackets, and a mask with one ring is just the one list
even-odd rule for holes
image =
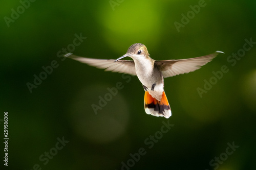
{"label": "hummingbird's outstretched wing on the right, away from its beak", "polygon": [[189,58],[189,59],[155,61],[155,64],[158,66],[159,70],[162,72],[162,75],[164,78],[173,77],[176,75],[195,71],[201,68],[201,66],[210,62],[219,53],[223,53],[223,52],[217,51],[207,56]]}

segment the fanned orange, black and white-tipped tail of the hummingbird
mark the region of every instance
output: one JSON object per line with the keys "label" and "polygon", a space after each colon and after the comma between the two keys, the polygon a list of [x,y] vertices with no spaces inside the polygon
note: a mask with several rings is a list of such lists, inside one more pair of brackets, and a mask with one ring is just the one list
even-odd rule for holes
{"label": "fanned orange, black and white-tipped tail of the hummingbird", "polygon": [[164,91],[161,101],[153,98],[148,91],[145,91],[144,108],[147,114],[154,116],[164,116],[165,118],[169,118],[172,115],[172,111],[170,111],[170,105]]}

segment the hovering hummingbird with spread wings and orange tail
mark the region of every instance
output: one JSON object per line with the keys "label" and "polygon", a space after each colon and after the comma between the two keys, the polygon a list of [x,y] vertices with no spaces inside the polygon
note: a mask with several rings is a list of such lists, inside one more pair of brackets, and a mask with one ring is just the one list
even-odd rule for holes
{"label": "hovering hummingbird with spread wings and orange tail", "polygon": [[[142,43],[131,45],[126,54],[118,59],[93,59],[75,56],[72,53],[64,55],[81,63],[86,63],[105,71],[119,72],[137,76],[145,90],[144,109],[147,114],[169,118],[172,115],[170,105],[164,92],[164,78],[173,77],[195,71],[210,62],[221,51],[189,59],[154,60],[148,54]],[[131,57],[133,60],[121,60]]]}

